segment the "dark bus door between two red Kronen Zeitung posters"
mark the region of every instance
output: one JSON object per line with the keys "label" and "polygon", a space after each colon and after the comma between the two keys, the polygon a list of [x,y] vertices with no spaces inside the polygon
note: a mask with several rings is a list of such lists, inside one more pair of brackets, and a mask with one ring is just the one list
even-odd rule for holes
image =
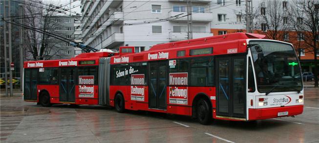
{"label": "dark bus door between two red Kronen Zeitung posters", "polygon": [[167,62],[149,63],[149,108],[166,109]]}

